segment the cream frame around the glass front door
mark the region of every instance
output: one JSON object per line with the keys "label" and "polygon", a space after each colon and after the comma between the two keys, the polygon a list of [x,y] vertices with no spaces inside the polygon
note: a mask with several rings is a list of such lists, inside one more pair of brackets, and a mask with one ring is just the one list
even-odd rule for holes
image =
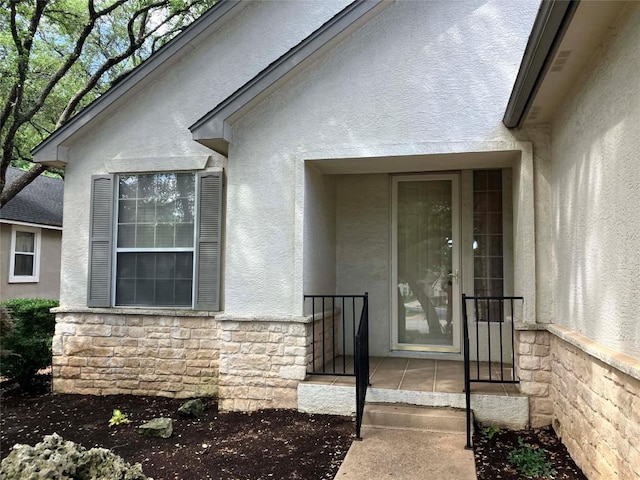
{"label": "cream frame around the glass front door", "polygon": [[[462,292],[462,243],[461,243],[461,221],[462,221],[462,205],[461,205],[461,172],[447,173],[420,173],[420,174],[399,174],[391,175],[391,276],[389,282],[389,294],[391,310],[390,318],[390,351],[395,353],[411,352],[411,353],[450,353],[459,355],[462,353],[462,311],[461,311],[461,292]],[[451,210],[452,210],[452,240],[453,251],[451,268],[453,272],[457,272],[457,280],[452,282],[452,322],[453,322],[453,344],[452,346],[442,345],[414,345],[398,342],[398,184],[406,181],[437,181],[451,180]]]}

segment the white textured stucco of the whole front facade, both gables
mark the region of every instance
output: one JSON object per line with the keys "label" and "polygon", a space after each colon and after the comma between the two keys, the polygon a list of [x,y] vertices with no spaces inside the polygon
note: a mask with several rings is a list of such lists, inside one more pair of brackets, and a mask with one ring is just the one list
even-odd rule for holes
{"label": "white textured stucco of the whole front facade, both gables", "polygon": [[[112,158],[211,153],[187,127],[346,3],[245,7],[69,142],[65,222],[74,235],[63,241],[64,306],[85,304],[90,175],[103,173]],[[519,148],[501,118],[537,7],[508,0],[393,3],[238,120],[227,165],[225,311],[297,315],[303,283],[331,282],[328,273],[307,272],[318,261],[305,259],[310,245],[303,248],[304,161],[318,152],[366,157],[401,145],[421,154],[435,144],[474,152],[487,142]],[[224,163],[213,156],[213,164]]]}

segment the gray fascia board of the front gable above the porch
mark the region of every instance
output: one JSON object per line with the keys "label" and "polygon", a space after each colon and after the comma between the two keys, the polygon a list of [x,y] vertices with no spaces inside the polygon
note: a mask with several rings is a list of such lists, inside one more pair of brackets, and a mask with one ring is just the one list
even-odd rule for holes
{"label": "gray fascia board of the front gable above the porch", "polygon": [[308,65],[390,3],[388,0],[361,0],[348,5],[190,126],[193,139],[228,155],[233,121],[277,89],[293,72]]}

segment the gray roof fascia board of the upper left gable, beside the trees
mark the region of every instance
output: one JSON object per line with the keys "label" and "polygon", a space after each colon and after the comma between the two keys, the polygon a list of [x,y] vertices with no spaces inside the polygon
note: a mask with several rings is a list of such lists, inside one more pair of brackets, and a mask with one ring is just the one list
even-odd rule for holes
{"label": "gray roof fascia board of the upper left gable, beside the trees", "polygon": [[184,32],[171,39],[160,50],[146,59],[137,68],[133,69],[126,78],[116,83],[89,106],[37,145],[32,150],[34,161],[57,163],[58,165],[60,163],[66,163],[67,159],[64,157],[64,154],[61,155],[61,152],[64,153],[64,149],[60,148],[65,140],[87,123],[91,122],[105,109],[115,103],[122,95],[143,81],[158,67],[165,64],[171,57],[192,44],[197,37],[211,25],[217,23],[241,4],[241,0],[219,0],[218,3],[189,25]]}

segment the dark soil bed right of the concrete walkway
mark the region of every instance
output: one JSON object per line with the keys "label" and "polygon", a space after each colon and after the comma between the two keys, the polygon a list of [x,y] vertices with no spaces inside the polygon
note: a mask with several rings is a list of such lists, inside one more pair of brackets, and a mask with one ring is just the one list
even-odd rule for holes
{"label": "dark soil bed right of the concrete walkway", "polygon": [[[525,447],[543,449],[545,461],[555,473],[549,477],[527,477],[516,471],[509,462],[509,454],[520,447],[519,439]],[[495,431],[490,426],[476,425],[473,447],[478,480],[587,480],[551,427]]]}

